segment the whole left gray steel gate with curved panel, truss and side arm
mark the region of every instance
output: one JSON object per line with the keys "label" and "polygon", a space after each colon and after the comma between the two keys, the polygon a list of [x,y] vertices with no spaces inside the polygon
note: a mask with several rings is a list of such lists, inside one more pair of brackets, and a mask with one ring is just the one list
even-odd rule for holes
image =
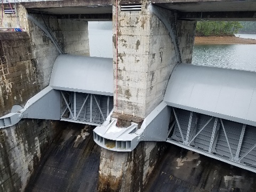
{"label": "whole left gray steel gate with curved panel, truss and side arm", "polygon": [[59,55],[50,85],[24,107],[13,106],[11,113],[0,117],[0,128],[17,124],[22,118],[101,125],[113,109],[113,92],[112,59]]}

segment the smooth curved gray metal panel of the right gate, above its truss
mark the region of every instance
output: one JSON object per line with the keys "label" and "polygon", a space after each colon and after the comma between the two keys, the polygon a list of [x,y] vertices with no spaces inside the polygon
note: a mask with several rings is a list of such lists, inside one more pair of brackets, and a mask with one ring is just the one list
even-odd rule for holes
{"label": "smooth curved gray metal panel of the right gate, above its truss", "polygon": [[256,126],[256,73],[177,65],[167,85],[167,105]]}

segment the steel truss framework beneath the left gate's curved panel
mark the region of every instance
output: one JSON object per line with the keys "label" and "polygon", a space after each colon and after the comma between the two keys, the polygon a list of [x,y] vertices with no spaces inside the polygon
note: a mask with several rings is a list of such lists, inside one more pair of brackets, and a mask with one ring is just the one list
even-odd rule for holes
{"label": "steel truss framework beneath the left gate's curved panel", "polygon": [[113,109],[113,96],[61,91],[61,120],[100,125]]}

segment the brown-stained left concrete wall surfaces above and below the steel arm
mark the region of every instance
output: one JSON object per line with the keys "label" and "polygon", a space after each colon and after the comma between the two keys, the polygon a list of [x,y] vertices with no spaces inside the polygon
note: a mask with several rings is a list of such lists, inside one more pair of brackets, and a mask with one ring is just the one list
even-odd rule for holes
{"label": "brown-stained left concrete wall surfaces above and below the steel arm", "polygon": [[[24,105],[39,91],[32,47],[26,32],[0,32],[0,115]],[[0,191],[23,191],[55,136],[56,122],[26,119],[0,130]]]}

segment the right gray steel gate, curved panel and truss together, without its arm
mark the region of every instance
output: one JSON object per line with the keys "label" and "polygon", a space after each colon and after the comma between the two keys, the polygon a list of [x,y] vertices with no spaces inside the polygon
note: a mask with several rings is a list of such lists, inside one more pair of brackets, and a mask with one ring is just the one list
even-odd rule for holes
{"label": "right gray steel gate, curved panel and truss together, without its arm", "polygon": [[164,102],[174,121],[167,142],[256,172],[256,74],[177,65]]}

